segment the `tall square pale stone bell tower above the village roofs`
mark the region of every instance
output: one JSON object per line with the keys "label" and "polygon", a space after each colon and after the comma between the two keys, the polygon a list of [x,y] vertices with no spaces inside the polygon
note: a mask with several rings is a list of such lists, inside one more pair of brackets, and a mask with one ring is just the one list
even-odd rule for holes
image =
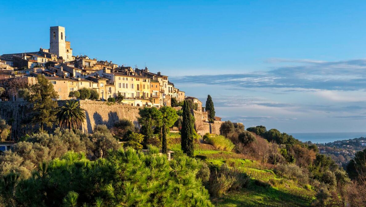
{"label": "tall square pale stone bell tower above the village roofs", "polygon": [[65,27],[55,26],[49,29],[49,52],[57,54],[57,57],[63,60],[66,56],[66,37]]}

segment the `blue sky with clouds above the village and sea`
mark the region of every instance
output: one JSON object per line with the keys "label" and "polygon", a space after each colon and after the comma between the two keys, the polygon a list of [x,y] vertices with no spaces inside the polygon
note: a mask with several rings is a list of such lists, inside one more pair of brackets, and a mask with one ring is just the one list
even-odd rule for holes
{"label": "blue sky with clouds above the village and sea", "polygon": [[49,47],[161,71],[218,116],[284,132],[366,131],[365,1],[3,1],[0,53]]}

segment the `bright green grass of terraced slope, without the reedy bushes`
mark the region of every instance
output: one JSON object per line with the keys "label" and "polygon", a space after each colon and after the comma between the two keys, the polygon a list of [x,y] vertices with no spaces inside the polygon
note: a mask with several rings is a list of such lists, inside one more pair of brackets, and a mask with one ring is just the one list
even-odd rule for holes
{"label": "bright green grass of terraced slope, without the reedy bushes", "polygon": [[[315,192],[311,186],[301,186],[296,180],[277,176],[273,172],[273,165],[246,159],[245,155],[205,148],[196,144],[195,157],[215,166],[227,164],[250,176],[246,188],[218,198],[211,197],[217,207],[309,207],[314,199]],[[171,150],[180,151],[180,144],[172,144]]]}

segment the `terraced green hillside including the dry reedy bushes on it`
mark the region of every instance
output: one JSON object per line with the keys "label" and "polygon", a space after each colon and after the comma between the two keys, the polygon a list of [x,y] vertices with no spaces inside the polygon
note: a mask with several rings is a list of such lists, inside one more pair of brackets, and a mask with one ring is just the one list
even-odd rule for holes
{"label": "terraced green hillside including the dry reedy bushes on it", "polygon": [[[169,147],[180,154],[178,145]],[[194,154],[210,169],[210,179],[204,185],[209,189],[215,206],[302,207],[310,206],[315,199],[313,187],[300,184],[295,177],[276,174],[275,165],[248,159],[246,155],[231,151],[205,148],[204,144],[196,144]]]}

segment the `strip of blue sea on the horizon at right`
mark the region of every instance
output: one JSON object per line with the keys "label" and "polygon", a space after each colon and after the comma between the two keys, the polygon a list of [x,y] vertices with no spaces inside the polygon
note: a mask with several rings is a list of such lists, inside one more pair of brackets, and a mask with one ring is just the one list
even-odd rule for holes
{"label": "strip of blue sea on the horizon at right", "polygon": [[338,140],[366,137],[366,132],[309,132],[288,134],[301,142],[311,141],[312,143],[329,143]]}

